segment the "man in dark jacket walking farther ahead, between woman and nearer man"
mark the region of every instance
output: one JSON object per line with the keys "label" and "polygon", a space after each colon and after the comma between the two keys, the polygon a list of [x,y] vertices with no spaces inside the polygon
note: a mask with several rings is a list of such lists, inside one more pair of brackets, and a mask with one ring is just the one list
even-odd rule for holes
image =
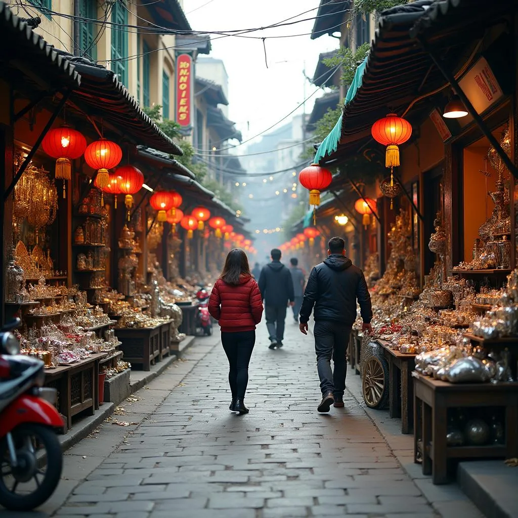
{"label": "man in dark jacket walking farther ahead, between woman and nearer man", "polygon": [[286,308],[294,305],[293,281],[290,270],[281,263],[281,251],[274,248],[259,276],[259,289],[264,300],[269,349],[281,348],[284,340]]}

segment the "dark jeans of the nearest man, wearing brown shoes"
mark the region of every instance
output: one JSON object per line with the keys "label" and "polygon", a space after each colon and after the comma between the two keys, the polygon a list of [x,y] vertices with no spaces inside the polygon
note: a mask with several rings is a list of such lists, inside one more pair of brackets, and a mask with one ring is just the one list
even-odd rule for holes
{"label": "dark jeans of the nearest man, wearing brown shoes", "polygon": [[[326,320],[315,322],[313,328],[320,389],[323,395],[332,392],[335,399],[342,398],[346,389],[346,353],[350,333],[350,326]],[[331,358],[334,370],[331,370]]]}

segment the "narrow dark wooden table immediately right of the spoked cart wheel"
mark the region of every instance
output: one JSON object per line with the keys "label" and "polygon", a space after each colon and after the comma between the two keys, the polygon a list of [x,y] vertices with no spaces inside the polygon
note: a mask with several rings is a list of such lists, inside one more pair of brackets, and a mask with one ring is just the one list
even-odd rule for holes
{"label": "narrow dark wooden table immediately right of the spoked cart wheel", "polygon": [[394,351],[388,343],[379,342],[389,364],[389,414],[391,418],[401,418],[401,433],[409,434],[413,427],[414,402],[411,373],[416,355]]}

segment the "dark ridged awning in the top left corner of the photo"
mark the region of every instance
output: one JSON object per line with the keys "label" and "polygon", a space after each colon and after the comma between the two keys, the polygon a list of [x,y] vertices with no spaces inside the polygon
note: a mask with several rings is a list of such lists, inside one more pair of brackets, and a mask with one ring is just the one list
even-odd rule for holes
{"label": "dark ridged awning in the top left corner of the photo", "polygon": [[74,64],[33,32],[4,2],[0,2],[0,45],[4,49],[0,57],[1,75],[16,80],[11,70],[19,70],[23,82],[28,78],[40,88],[79,87],[81,76]]}

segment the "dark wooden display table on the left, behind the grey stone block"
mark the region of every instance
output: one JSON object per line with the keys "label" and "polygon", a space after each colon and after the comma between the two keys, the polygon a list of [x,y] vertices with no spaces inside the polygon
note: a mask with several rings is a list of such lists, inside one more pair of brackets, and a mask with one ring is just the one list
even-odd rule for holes
{"label": "dark wooden display table on the left, behind the grey stone block", "polygon": [[150,370],[156,358],[160,360],[160,337],[163,325],[116,329],[117,338],[122,342],[120,349],[124,353],[124,361],[141,364],[142,370]]}

